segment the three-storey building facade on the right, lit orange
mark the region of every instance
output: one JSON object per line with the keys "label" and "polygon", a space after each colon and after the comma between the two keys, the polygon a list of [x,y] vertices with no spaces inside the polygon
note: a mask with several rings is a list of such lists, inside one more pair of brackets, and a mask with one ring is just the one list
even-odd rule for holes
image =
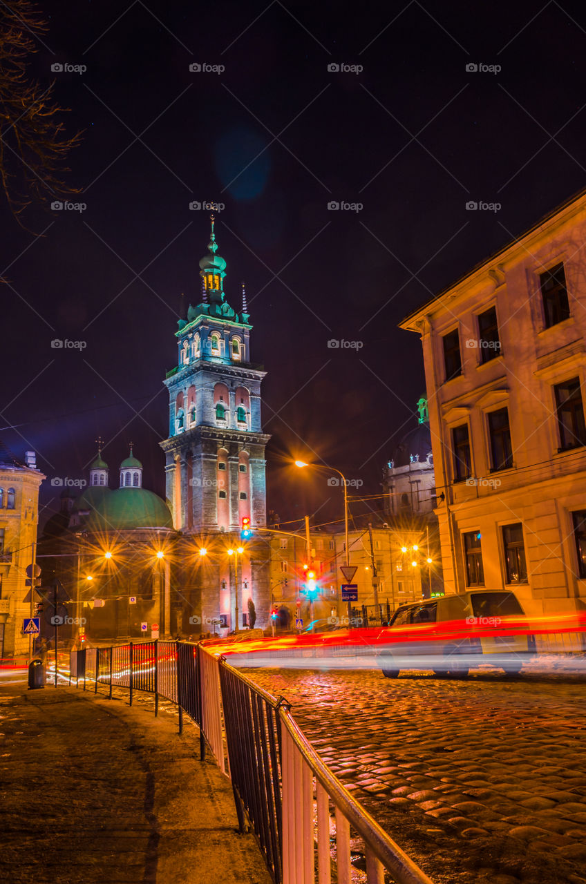
{"label": "three-storey building facade on the right, lit orange", "polygon": [[408,316],[420,334],[446,591],[586,602],[586,194]]}

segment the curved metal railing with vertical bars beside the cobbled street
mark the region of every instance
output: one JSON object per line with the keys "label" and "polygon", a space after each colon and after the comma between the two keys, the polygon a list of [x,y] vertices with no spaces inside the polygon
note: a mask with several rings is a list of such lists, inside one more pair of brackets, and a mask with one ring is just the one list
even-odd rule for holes
{"label": "curved metal railing with vertical bars beside the cobbled street", "polygon": [[[165,697],[200,729],[232,782],[241,831],[251,827],[275,884],[351,884],[363,853],[366,884],[432,884],[322,761],[283,697],[201,645],[153,641],[72,652],[70,678]],[[364,850],[351,851],[351,833]],[[335,843],[335,848],[332,847]],[[356,844],[356,841],[352,842]]]}

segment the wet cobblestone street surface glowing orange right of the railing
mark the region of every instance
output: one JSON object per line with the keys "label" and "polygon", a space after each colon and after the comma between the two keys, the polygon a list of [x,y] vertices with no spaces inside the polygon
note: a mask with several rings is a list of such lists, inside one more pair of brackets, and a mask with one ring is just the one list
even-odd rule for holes
{"label": "wet cobblestone street surface glowing orange right of the railing", "polygon": [[586,681],[254,669],[436,882],[586,882]]}

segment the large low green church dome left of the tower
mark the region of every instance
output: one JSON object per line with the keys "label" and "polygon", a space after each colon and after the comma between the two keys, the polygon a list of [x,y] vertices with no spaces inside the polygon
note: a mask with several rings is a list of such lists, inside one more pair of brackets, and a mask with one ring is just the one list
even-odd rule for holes
{"label": "large low green church dome left of the tower", "polygon": [[173,518],[165,500],[157,494],[145,488],[127,487],[105,495],[101,505],[89,514],[86,528],[89,531],[173,528]]}

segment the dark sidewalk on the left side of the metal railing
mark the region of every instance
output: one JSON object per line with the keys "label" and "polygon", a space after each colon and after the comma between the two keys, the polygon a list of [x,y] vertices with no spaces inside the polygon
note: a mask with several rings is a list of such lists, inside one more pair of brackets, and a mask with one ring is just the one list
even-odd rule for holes
{"label": "dark sidewalk on the left side of the metal railing", "polygon": [[197,728],[75,688],[0,696],[10,884],[269,884]]}

